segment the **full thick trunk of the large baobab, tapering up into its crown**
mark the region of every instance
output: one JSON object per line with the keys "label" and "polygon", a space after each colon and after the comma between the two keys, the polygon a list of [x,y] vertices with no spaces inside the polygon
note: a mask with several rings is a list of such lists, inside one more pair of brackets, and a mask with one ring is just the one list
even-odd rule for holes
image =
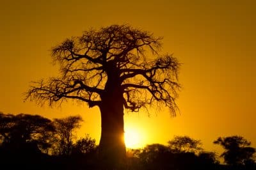
{"label": "full thick trunk of the large baobab, tapering up into its crown", "polygon": [[109,166],[120,166],[125,161],[124,99],[115,70],[108,73],[108,81],[101,100],[99,105],[101,114],[99,155]]}

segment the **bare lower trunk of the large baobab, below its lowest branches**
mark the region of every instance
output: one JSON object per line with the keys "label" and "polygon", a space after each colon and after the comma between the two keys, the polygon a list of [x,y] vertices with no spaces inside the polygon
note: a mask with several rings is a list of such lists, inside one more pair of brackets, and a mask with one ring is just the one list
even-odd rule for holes
{"label": "bare lower trunk of the large baobab, below its lowest branches", "polygon": [[100,106],[101,137],[99,143],[100,158],[109,166],[124,164],[124,109],[115,100],[109,100]]}

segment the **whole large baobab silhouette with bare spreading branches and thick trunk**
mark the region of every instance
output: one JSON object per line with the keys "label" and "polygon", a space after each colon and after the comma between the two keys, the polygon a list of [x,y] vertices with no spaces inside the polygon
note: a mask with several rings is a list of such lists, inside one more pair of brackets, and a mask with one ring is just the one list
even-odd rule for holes
{"label": "whole large baobab silhouette with bare spreading branches and thick trunk", "polygon": [[127,25],[85,31],[52,49],[60,63],[60,77],[34,82],[26,100],[40,104],[67,98],[98,106],[101,114],[99,153],[121,160],[125,157],[124,107],[138,112],[156,104],[177,105],[177,73],[180,63],[170,54],[161,55],[160,37]]}

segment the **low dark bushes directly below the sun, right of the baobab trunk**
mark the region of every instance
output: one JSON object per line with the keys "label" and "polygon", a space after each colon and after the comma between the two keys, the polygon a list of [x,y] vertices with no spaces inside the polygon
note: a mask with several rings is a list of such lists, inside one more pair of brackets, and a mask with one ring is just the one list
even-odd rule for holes
{"label": "low dark bushes directly below the sun, right of the baobab trunk", "polygon": [[[214,153],[173,152],[163,144],[150,144],[133,151],[131,169],[217,169],[219,162]],[[131,160],[131,158],[130,158]]]}

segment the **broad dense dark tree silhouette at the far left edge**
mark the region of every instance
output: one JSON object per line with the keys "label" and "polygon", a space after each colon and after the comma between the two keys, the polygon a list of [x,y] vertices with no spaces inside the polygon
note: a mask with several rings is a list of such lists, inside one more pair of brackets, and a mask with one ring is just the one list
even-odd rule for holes
{"label": "broad dense dark tree silhouette at the far left edge", "polygon": [[52,121],[39,115],[0,113],[1,145],[9,151],[38,153],[51,147]]}

